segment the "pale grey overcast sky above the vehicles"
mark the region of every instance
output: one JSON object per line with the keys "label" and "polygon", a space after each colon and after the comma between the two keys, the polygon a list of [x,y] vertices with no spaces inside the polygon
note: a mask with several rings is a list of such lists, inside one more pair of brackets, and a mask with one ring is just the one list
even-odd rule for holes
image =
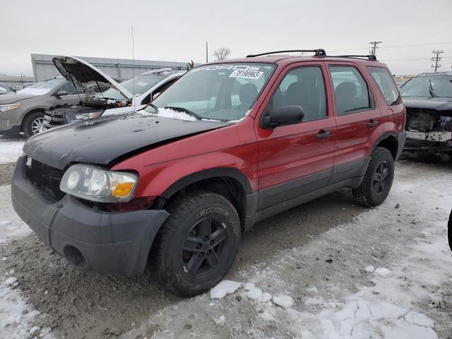
{"label": "pale grey overcast sky above the vehicles", "polygon": [[[429,71],[432,49],[452,63],[452,0],[278,1],[0,0],[0,73],[32,75],[31,53],[162,61],[206,61],[279,49],[377,56],[393,73]],[[407,46],[413,45],[416,46]],[[396,47],[397,46],[397,47]],[[403,47],[399,47],[403,46]]]}

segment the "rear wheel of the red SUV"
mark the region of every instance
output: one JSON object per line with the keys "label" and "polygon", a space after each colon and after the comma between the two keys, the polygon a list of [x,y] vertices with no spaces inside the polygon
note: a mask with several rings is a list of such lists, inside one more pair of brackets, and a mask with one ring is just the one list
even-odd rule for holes
{"label": "rear wheel of the red SUV", "polygon": [[362,206],[379,206],[391,191],[393,179],[393,155],[387,148],[377,147],[371,155],[361,186],[352,189],[353,196]]}

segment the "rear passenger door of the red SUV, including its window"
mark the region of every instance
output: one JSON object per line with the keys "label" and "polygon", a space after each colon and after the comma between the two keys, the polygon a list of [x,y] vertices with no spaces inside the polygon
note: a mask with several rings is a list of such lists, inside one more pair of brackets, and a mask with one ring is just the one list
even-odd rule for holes
{"label": "rear passenger door of the red SUV, including its window", "polygon": [[337,124],[335,174],[331,184],[362,176],[371,133],[383,118],[362,73],[350,62],[328,62]]}

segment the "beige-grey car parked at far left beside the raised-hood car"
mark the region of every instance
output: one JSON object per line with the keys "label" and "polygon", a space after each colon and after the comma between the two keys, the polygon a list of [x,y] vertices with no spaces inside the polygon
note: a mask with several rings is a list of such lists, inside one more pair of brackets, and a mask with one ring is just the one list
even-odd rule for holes
{"label": "beige-grey car parked at far left beside the raised-hood car", "polygon": [[[97,91],[107,90],[109,83],[100,83]],[[42,130],[44,112],[56,105],[77,105],[85,99],[82,88],[63,77],[39,81],[13,94],[0,96],[0,134],[32,136]]]}

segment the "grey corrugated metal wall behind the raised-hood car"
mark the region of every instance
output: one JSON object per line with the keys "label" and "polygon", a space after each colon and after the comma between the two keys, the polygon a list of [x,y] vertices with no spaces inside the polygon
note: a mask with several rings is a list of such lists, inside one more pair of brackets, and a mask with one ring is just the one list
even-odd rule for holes
{"label": "grey corrugated metal wall behind the raised-hood car", "polygon": [[[52,63],[54,55],[49,54],[31,54],[31,63],[33,67],[33,76],[36,81],[42,81],[54,76],[61,76],[59,71]],[[135,75],[150,71],[152,69],[185,69],[185,62],[172,61],[153,61],[153,60],[131,60],[131,59],[109,59],[109,58],[91,58],[79,57],[90,64],[96,66],[109,76],[129,79]]]}

